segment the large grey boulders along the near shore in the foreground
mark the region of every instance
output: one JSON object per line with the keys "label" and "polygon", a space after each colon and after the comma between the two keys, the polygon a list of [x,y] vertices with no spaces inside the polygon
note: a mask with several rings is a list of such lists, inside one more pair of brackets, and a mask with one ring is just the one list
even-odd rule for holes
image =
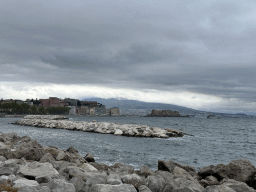
{"label": "large grey boulders along the near shore in the foreground", "polygon": [[41,146],[28,136],[0,133],[0,191],[18,192],[255,192],[256,168],[246,160],[198,172],[174,161],[111,166],[82,157],[73,147]]}

